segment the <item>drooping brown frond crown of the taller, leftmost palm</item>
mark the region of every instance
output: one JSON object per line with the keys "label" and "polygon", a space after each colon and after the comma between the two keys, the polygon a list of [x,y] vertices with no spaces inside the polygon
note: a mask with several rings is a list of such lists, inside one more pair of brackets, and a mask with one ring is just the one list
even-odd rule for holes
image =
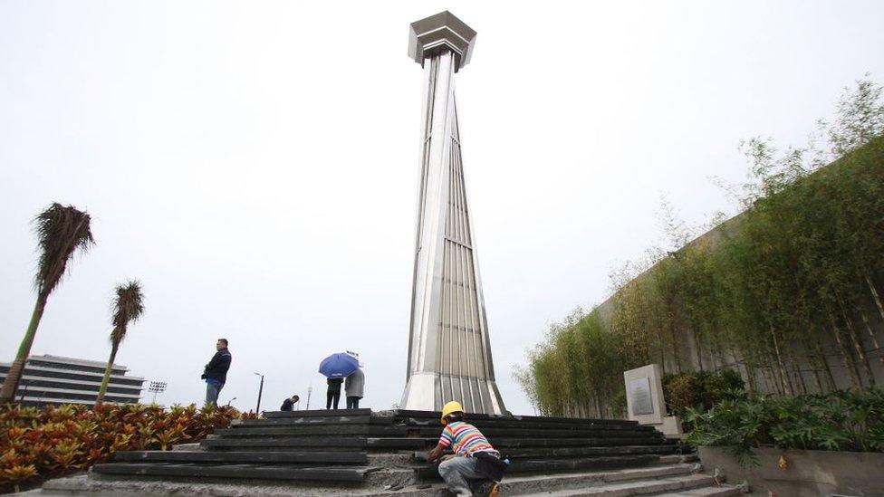
{"label": "drooping brown frond crown of the taller, leftmost palm", "polygon": [[34,218],[34,232],[40,247],[40,262],[34,286],[42,295],[53,292],[62,281],[68,260],[77,249],[88,251],[95,239],[90,215],[73,205],[53,203]]}

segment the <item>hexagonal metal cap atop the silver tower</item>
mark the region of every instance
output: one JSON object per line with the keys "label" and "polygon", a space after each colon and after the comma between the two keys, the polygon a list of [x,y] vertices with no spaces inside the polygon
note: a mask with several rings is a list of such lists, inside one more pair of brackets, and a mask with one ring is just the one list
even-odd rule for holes
{"label": "hexagonal metal cap atop the silver tower", "polygon": [[419,64],[440,50],[455,53],[455,71],[469,63],[476,44],[476,32],[448,11],[411,23],[408,57]]}

